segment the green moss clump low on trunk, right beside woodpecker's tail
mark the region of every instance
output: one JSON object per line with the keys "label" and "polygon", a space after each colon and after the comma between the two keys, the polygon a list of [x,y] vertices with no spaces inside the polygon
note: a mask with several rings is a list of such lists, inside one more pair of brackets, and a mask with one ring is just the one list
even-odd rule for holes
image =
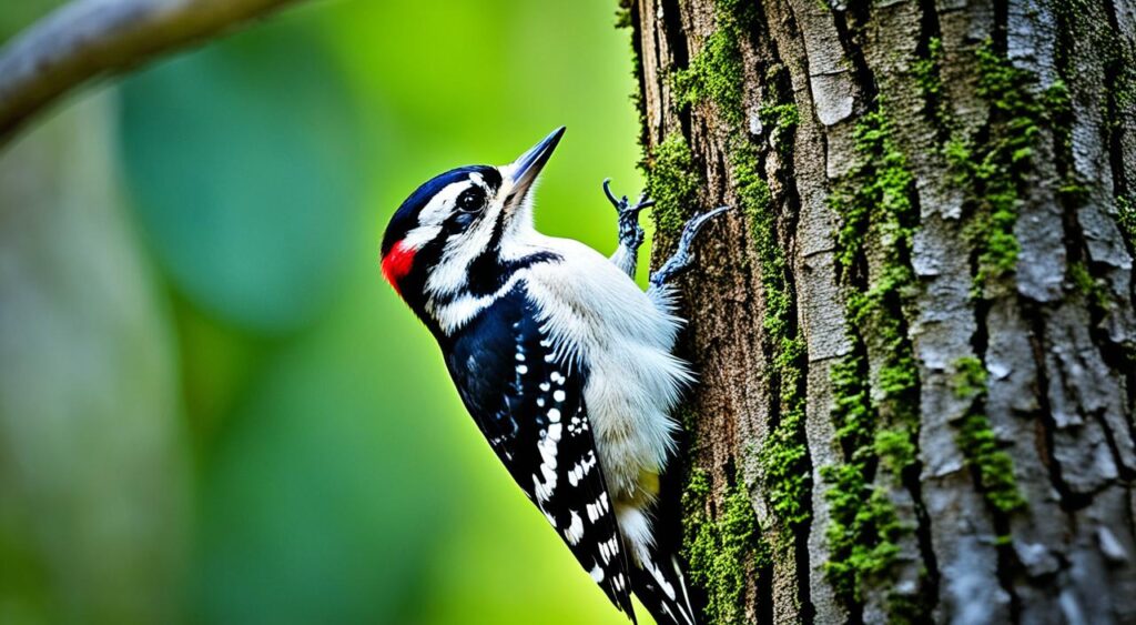
{"label": "green moss clump low on trunk, right beside woodpecker's tail", "polygon": [[758,532],[758,518],[745,490],[732,486],[711,518],[710,476],[691,473],[683,494],[684,557],[691,578],[707,590],[710,623],[744,623],[747,582],[769,566],[769,550]]}

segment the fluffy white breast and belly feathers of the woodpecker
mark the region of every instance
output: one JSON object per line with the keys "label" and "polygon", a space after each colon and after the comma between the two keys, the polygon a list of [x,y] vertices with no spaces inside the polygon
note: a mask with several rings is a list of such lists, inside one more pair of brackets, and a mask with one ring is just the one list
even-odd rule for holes
{"label": "fluffy white breast and belly feathers of the woodpecker", "polygon": [[584,401],[612,498],[635,498],[674,451],[670,413],[692,381],[671,355],[682,319],[595,250],[542,239],[565,261],[532,267],[529,295],[558,352],[587,372]]}

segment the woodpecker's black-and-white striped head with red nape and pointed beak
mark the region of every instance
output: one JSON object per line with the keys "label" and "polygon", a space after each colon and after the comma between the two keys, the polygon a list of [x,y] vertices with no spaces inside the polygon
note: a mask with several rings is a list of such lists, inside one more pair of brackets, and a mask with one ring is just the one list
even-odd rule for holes
{"label": "woodpecker's black-and-white striped head with red nape and pointed beak", "polygon": [[502,250],[533,232],[533,183],[563,132],[509,165],[434,176],[402,202],[383,236],[383,275],[419,316],[429,322],[438,307],[495,284]]}

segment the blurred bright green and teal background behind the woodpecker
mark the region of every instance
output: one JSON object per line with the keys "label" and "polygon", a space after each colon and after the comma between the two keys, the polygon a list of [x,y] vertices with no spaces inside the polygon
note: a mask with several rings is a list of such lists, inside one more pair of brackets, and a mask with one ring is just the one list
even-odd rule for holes
{"label": "blurred bright green and teal background behind the woodpecker", "polygon": [[[0,38],[56,3],[3,3]],[[625,623],[377,258],[417,184],[561,124],[537,225],[613,249],[600,182],[641,184],[613,14],[301,3],[0,153],[0,622]]]}

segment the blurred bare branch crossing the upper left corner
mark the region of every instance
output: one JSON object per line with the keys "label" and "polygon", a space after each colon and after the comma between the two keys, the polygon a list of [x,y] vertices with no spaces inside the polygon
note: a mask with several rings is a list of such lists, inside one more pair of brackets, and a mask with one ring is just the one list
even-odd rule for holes
{"label": "blurred bare branch crossing the upper left corner", "polygon": [[294,0],[74,0],[0,49],[0,145],[68,91]]}

